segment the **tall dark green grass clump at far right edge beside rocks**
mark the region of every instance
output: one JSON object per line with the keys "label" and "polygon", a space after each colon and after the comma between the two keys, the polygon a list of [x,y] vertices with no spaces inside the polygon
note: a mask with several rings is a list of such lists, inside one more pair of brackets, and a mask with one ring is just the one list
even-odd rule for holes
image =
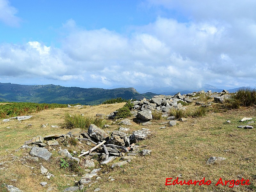
{"label": "tall dark green grass clump at far right edge beside rocks", "polygon": [[250,107],[256,105],[256,90],[248,87],[239,89],[230,99],[225,100],[226,108]]}

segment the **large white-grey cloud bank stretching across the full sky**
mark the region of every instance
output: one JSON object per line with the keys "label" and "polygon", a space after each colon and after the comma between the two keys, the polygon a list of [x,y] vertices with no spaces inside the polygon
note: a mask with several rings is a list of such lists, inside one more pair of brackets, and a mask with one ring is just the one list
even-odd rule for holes
{"label": "large white-grey cloud bank stretching across the full sky", "polygon": [[[246,12],[244,5],[227,1],[219,1],[218,6],[213,1],[149,2],[187,12],[188,20],[158,17],[134,27],[130,34],[120,34],[107,28],[77,27],[71,19],[63,24],[67,35],[60,48],[39,42],[0,45],[0,73],[75,80],[98,87],[193,89],[204,84],[256,84],[256,23],[251,7]],[[251,1],[248,5],[255,7]],[[227,8],[224,15],[223,7]]]}

